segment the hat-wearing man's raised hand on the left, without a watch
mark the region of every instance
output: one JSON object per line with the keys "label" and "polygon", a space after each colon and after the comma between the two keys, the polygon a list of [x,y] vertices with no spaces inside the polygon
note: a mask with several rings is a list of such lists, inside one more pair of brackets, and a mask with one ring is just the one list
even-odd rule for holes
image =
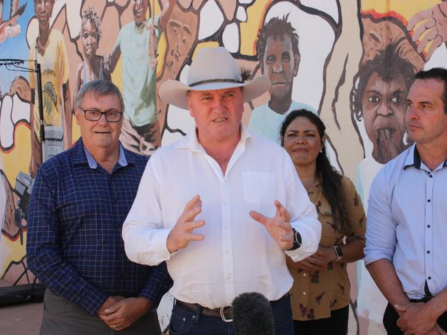
{"label": "hat-wearing man's raised hand on the left, without a watch", "polygon": [[205,224],[205,220],[194,221],[200,212],[201,200],[200,196],[197,195],[188,201],[182,215],[168,235],[166,246],[170,253],[186,248],[190,241],[201,241],[204,239],[204,235],[193,234],[194,229]]}

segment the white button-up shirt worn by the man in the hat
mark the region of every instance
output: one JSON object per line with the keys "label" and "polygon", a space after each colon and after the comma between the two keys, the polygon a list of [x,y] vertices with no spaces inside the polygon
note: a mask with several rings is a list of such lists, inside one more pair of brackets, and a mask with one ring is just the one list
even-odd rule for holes
{"label": "white button-up shirt worn by the man in the hat", "polygon": [[[170,254],[166,239],[188,200],[200,195],[203,241]],[[197,141],[195,132],[153,154],[122,229],[129,259],[155,265],[166,260],[174,280],[171,294],[207,308],[228,306],[243,292],[269,300],[292,287],[285,253],[250,210],[273,217],[279,200],[303,244],[287,251],[298,261],[318,248],[321,224],[315,206],[283,148],[241,126],[241,140],[226,173]]]}

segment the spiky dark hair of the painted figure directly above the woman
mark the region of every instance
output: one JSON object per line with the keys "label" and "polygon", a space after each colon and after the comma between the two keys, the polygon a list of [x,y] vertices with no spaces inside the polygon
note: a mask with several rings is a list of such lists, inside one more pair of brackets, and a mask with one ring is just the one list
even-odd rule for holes
{"label": "spiky dark hair of the painted figure directly above the woman", "polygon": [[282,19],[273,17],[268,23],[265,23],[265,25],[261,27],[258,34],[258,41],[256,43],[256,52],[259,60],[262,61],[263,59],[267,39],[269,37],[272,37],[275,40],[284,41],[284,36],[289,36],[294,54],[300,56],[300,51],[298,50],[298,34],[296,34],[295,28],[292,27],[292,23],[287,21],[288,17],[289,14],[284,15]]}

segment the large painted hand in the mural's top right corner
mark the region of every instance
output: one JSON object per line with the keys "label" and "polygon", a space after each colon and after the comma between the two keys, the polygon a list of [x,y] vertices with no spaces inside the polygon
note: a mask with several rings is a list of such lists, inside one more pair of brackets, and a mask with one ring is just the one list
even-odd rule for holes
{"label": "large painted hand in the mural's top right corner", "polygon": [[428,43],[433,42],[427,51],[426,60],[428,60],[437,47],[447,40],[447,2],[441,1],[428,10],[418,12],[410,20],[406,29],[413,30],[417,24],[419,26],[413,31],[413,41],[419,40],[425,33],[417,46],[417,52],[422,53]]}

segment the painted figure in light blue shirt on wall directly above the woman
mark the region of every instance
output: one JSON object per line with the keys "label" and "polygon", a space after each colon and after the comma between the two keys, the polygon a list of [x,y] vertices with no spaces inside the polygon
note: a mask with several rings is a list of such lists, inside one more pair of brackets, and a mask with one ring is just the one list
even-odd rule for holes
{"label": "painted figure in light blue shirt on wall directly above the woman", "polygon": [[261,27],[257,55],[261,73],[270,78],[270,100],[252,111],[248,128],[272,141],[279,142],[279,127],[283,119],[296,109],[314,108],[292,101],[294,77],[298,74],[300,52],[298,34],[287,21],[288,14],[273,17]]}

